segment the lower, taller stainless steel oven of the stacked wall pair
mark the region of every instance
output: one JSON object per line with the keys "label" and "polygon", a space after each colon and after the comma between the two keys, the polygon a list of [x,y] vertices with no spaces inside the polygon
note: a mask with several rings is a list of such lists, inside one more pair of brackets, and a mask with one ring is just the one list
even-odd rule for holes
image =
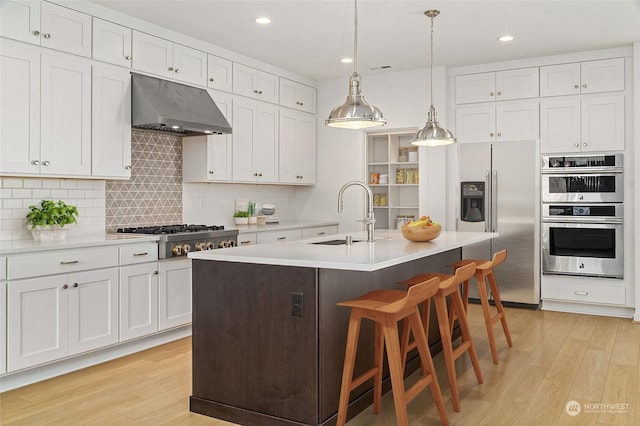
{"label": "lower, taller stainless steel oven of the stacked wall pair", "polygon": [[623,205],[544,204],[544,274],[623,278]]}

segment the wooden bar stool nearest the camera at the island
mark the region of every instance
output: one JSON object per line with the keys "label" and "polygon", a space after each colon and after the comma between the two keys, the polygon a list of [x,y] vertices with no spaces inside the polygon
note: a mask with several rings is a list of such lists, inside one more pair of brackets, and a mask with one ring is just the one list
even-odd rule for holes
{"label": "wooden bar stool nearest the camera at the island", "polygon": [[[342,371],[342,385],[340,387],[340,403],[338,406],[338,426],[345,424],[347,420],[347,408],[349,395],[362,383],[373,378],[373,412],[378,414],[382,402],[382,367],[383,352],[387,348],[387,360],[391,375],[391,387],[396,409],[398,425],[408,425],[407,403],[420,391],[431,385],[431,394],[438,408],[440,421],[448,425],[449,420],[444,408],[442,392],[438,384],[438,378],[433,367],[433,360],[427,345],[427,338],[418,312],[418,304],[428,301],[438,292],[440,280],[437,278],[419,283],[409,289],[401,290],[376,290],[356,299],[338,303],[339,306],[351,308],[349,316],[349,331]],[[375,349],[374,366],[357,378],[353,378],[356,350],[360,335],[362,319],[375,322]],[[401,364],[400,339],[398,337],[398,321],[407,319],[409,328],[415,341],[422,362],[422,368],[426,374],[411,388],[405,391],[403,382],[404,365]]]}

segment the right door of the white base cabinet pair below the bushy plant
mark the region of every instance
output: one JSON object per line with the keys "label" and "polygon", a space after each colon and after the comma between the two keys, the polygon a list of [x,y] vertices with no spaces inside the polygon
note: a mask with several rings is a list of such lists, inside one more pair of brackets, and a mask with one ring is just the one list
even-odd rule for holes
{"label": "right door of the white base cabinet pair below the bushy plant", "polygon": [[69,355],[118,343],[118,268],[69,274]]}

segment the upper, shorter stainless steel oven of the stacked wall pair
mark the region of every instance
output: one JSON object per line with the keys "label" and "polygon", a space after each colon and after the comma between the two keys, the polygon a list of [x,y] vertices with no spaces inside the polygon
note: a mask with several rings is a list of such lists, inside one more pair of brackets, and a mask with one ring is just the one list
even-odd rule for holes
{"label": "upper, shorter stainless steel oven of the stacked wall pair", "polygon": [[622,154],[544,156],[543,203],[622,203]]}

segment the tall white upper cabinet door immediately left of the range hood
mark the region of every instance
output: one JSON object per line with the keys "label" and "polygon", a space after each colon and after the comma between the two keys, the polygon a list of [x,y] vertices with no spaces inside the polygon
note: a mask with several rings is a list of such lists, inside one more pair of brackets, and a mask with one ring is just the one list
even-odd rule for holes
{"label": "tall white upper cabinet door immediately left of the range hood", "polygon": [[131,177],[131,75],[128,70],[93,67],[91,175]]}

